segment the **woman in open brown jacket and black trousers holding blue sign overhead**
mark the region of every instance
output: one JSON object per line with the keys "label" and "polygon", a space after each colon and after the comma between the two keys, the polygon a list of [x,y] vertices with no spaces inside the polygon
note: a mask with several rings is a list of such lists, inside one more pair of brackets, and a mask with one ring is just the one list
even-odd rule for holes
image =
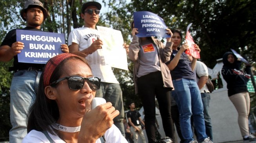
{"label": "woman in open brown jacket and black trousers holding blue sign overhead", "polygon": [[[166,33],[172,36],[170,29]],[[154,37],[138,38],[138,29],[132,24],[133,40],[129,46],[129,58],[134,61],[135,93],[140,95],[145,113],[145,130],[149,143],[156,142],[155,134],[155,97],[159,103],[165,136],[174,138],[171,118],[171,74],[165,62],[172,52],[171,38],[164,46]]]}

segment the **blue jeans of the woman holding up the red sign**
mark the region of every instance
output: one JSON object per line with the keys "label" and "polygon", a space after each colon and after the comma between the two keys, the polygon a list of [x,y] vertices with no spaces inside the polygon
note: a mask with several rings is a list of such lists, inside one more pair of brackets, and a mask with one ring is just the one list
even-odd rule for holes
{"label": "blue jeans of the woman holding up the red sign", "polygon": [[203,117],[203,103],[200,90],[193,79],[177,79],[172,80],[174,98],[180,112],[180,128],[185,143],[189,143],[193,139],[191,129],[191,116],[194,118],[194,126],[198,133],[198,141],[202,142],[207,135],[205,134],[205,122]]}

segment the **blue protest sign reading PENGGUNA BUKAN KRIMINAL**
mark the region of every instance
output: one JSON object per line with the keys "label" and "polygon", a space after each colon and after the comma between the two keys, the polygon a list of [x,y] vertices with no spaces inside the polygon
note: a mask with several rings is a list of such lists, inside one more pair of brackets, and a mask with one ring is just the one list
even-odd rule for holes
{"label": "blue protest sign reading PENGGUNA BUKAN KRIMINAL", "polygon": [[45,64],[55,55],[63,53],[60,46],[65,44],[64,34],[16,29],[16,40],[24,43],[18,54],[20,63]]}

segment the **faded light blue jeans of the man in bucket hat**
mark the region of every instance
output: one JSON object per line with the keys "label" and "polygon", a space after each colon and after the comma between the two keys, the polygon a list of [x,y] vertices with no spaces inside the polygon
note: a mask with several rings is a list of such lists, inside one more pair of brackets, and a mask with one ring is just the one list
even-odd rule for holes
{"label": "faded light blue jeans of the man in bucket hat", "polygon": [[20,70],[13,75],[10,88],[10,143],[21,143],[27,134],[27,112],[34,103],[42,71]]}

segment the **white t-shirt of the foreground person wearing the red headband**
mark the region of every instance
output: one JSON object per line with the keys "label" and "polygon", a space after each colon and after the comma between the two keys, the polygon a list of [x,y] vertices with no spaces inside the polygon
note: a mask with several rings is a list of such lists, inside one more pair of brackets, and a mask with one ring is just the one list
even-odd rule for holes
{"label": "white t-shirt of the foreground person wearing the red headband", "polygon": [[[50,134],[49,132],[48,134],[51,139],[53,139],[54,143],[66,143],[58,136]],[[128,143],[115,125],[112,125],[112,127],[105,132],[105,139],[107,143]],[[22,143],[50,143],[50,141],[43,132],[31,130],[22,140]],[[96,143],[101,143],[100,139],[97,139]]]}

